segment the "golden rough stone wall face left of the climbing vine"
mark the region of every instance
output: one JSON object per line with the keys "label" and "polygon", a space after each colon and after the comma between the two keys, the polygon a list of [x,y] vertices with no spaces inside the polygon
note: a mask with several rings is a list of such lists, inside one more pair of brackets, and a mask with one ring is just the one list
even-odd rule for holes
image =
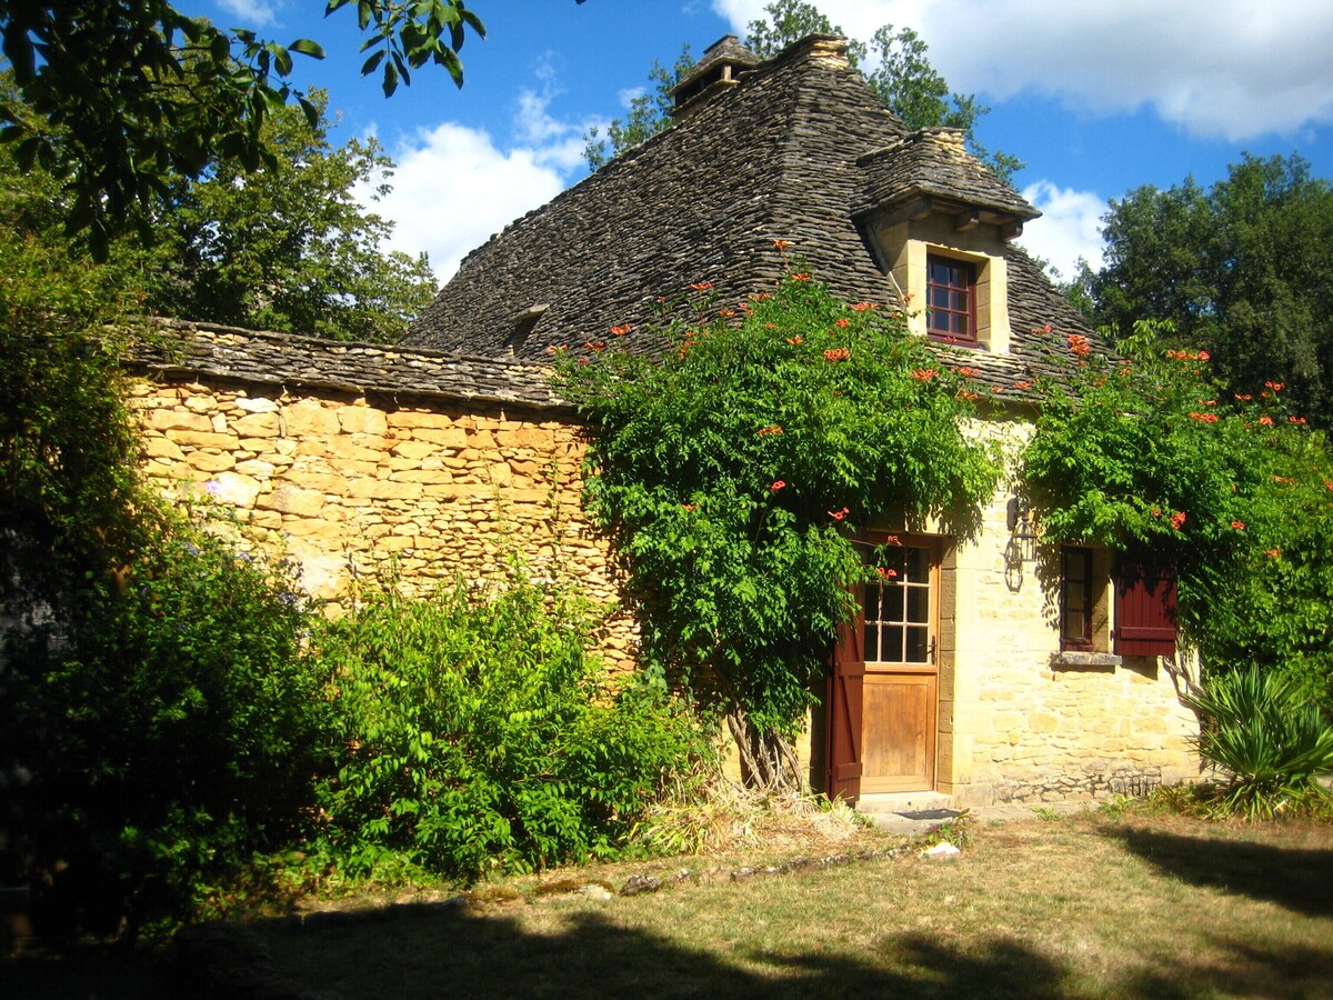
{"label": "golden rough stone wall face left of the climbing vine", "polygon": [[[133,403],[163,491],[219,505],[239,535],[295,559],[329,615],[353,575],[391,561],[408,592],[501,579],[519,557],[536,579],[619,599],[580,507],[580,432],[549,413],[225,379],[141,380]],[[631,617],[611,612],[608,660],[633,648]]]}

